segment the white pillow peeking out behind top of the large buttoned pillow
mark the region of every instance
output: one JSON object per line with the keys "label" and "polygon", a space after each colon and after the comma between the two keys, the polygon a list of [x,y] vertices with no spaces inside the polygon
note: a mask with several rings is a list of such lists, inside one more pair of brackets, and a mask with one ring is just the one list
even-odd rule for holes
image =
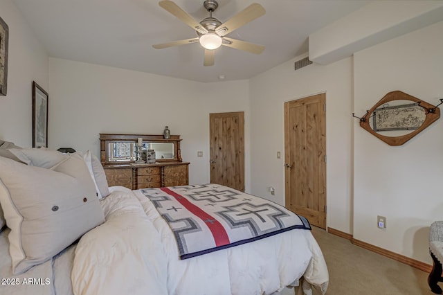
{"label": "white pillow peeking out behind top of the large buttoned pillow", "polygon": [[19,158],[20,161],[28,164],[29,166],[37,166],[42,168],[51,168],[57,163],[60,163],[66,157],[67,154],[58,152],[56,150],[47,150],[43,148],[33,148],[33,149],[15,149],[9,150],[15,157]]}

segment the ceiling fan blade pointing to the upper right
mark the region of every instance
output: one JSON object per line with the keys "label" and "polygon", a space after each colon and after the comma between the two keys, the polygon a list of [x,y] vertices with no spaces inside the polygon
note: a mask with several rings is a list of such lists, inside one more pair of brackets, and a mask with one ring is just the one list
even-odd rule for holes
{"label": "ceiling fan blade pointing to the upper right", "polygon": [[264,10],[263,6],[258,3],[252,3],[250,6],[244,8],[244,10],[234,15],[224,24],[221,24],[217,28],[215,28],[215,33],[220,36],[227,35],[228,33],[232,33],[237,28],[247,24],[249,21],[253,21],[257,17],[261,17],[264,15],[266,10]]}

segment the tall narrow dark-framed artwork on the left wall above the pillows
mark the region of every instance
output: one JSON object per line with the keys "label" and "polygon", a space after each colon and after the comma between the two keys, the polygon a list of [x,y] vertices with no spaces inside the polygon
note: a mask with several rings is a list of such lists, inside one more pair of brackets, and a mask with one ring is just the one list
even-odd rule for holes
{"label": "tall narrow dark-framed artwork on the left wall above the pillows", "polygon": [[48,147],[48,93],[33,82],[33,147]]}

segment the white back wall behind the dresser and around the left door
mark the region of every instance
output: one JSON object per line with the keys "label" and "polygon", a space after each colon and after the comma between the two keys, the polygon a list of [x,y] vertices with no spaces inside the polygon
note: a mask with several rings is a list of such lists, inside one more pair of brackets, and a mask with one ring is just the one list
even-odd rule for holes
{"label": "white back wall behind the dresser and around the left door", "polygon": [[[190,184],[209,179],[209,114],[245,112],[248,167],[248,81],[200,83],[124,69],[49,59],[49,147],[100,154],[99,133],[162,134],[168,125],[183,141]],[[197,158],[197,151],[204,157]],[[246,170],[246,190],[248,190]]]}

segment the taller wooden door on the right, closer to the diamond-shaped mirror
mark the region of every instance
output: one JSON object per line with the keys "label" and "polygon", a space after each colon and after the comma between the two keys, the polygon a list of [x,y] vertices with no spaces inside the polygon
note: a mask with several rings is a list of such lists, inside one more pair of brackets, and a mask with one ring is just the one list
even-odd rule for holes
{"label": "taller wooden door on the right, closer to the diamond-shaped mirror", "polygon": [[289,210],[326,227],[325,93],[284,103],[285,197]]}

